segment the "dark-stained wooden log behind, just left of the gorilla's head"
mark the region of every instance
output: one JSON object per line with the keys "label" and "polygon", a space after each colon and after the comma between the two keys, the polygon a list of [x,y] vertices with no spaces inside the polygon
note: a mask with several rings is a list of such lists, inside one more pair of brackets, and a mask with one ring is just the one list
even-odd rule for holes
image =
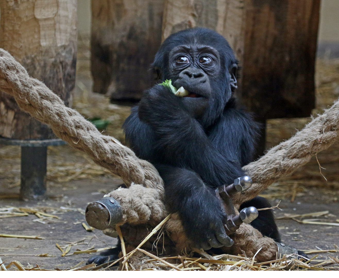
{"label": "dark-stained wooden log behind, just left of the gorilla's head", "polygon": [[138,100],[154,84],[149,71],[161,43],[164,0],[93,0],[93,91]]}

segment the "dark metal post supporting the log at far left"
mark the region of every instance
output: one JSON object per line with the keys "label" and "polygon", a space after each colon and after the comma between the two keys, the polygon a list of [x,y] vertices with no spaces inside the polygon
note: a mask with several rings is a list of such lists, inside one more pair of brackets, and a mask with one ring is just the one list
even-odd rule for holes
{"label": "dark metal post supporting the log at far left", "polygon": [[22,200],[41,200],[46,193],[47,147],[21,147]]}

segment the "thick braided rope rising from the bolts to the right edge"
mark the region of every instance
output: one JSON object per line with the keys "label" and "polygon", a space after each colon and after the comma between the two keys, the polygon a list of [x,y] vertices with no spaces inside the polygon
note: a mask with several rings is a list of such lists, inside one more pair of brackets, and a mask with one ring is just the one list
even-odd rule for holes
{"label": "thick braided rope rising from the bolts to the right edge", "polygon": [[308,123],[289,140],[270,149],[257,161],[243,167],[254,184],[233,197],[235,205],[251,200],[282,176],[292,174],[313,155],[330,147],[339,137],[339,100]]}

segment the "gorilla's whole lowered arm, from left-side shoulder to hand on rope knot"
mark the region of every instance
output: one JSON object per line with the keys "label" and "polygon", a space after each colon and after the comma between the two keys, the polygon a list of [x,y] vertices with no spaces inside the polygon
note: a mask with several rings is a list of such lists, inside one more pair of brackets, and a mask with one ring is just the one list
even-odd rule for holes
{"label": "gorilla's whole lowered arm, from left-side shoulder to hand on rope knot", "polygon": [[[186,234],[195,242],[196,247],[207,250],[211,247],[232,245],[232,240],[225,234],[223,228],[222,222],[225,215],[214,190],[206,186],[198,174],[193,171],[159,164],[159,162],[166,163],[163,151],[157,151],[154,148],[155,144],[159,145],[157,142],[159,138],[156,136],[153,126],[140,121],[137,109],[138,107],[132,108],[131,115],[123,125],[126,141],[140,158],[151,161],[158,169],[165,183],[167,209],[170,212],[178,211],[180,213]],[[159,119],[162,119],[162,116]],[[172,128],[176,128],[175,124],[170,125]],[[176,135],[172,133],[172,136]],[[176,140],[177,144],[181,144],[180,138]],[[190,139],[187,138],[187,140]],[[208,139],[205,138],[205,140]],[[176,151],[177,156],[180,156],[180,151],[175,149],[175,145],[171,145],[171,147],[174,148],[172,151]],[[165,150],[175,164],[177,158],[173,157],[171,149],[165,148]],[[208,171],[208,169],[204,171]]]}

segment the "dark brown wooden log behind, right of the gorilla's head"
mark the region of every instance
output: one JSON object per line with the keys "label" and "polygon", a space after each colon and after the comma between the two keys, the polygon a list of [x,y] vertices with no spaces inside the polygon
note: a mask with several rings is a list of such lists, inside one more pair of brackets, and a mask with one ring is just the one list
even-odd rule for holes
{"label": "dark brown wooden log behind, right of the gorilla's head", "polygon": [[320,0],[246,0],[242,101],[258,119],[308,117]]}

